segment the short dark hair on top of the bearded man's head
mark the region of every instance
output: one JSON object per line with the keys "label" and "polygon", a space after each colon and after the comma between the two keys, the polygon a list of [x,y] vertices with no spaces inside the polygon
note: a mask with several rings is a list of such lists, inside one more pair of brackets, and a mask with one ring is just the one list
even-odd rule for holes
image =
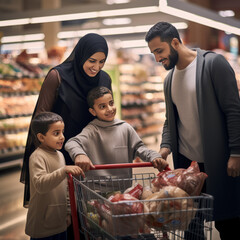
{"label": "short dark hair on top of the bearded man's head", "polygon": [[160,37],[162,42],[171,43],[173,38],[177,38],[182,43],[178,30],[168,22],[158,22],[150,28],[145,36],[146,42],[150,42],[153,38]]}

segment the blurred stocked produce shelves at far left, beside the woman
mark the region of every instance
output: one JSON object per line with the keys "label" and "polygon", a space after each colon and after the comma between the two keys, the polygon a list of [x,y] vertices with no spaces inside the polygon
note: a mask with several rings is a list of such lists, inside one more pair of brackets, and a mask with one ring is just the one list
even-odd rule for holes
{"label": "blurred stocked produce shelves at far left, beside the woman", "polygon": [[[20,56],[21,55],[21,56]],[[30,63],[29,55],[0,63],[0,150],[4,161],[23,154],[38,93],[49,66]]]}

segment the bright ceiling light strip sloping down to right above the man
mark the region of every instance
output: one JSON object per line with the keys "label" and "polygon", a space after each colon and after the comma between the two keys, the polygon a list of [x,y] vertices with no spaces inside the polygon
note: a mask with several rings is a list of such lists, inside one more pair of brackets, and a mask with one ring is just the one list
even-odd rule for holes
{"label": "bright ceiling light strip sloping down to right above the man", "polygon": [[240,21],[222,18],[217,13],[194,4],[178,0],[159,0],[159,9],[176,17],[240,35]]}

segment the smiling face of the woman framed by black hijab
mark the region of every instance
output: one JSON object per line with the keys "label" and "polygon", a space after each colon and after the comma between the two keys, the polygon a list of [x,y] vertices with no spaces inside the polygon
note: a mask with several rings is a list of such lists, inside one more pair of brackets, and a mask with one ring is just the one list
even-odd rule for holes
{"label": "smiling face of the woman framed by black hijab", "polygon": [[95,77],[103,68],[106,56],[103,52],[96,52],[83,64],[83,70],[89,77]]}

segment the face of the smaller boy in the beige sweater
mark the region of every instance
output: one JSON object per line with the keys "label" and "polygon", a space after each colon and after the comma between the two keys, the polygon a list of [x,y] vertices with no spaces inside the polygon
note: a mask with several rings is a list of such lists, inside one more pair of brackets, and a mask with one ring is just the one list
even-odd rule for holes
{"label": "face of the smaller boy in the beige sweater", "polygon": [[45,135],[38,133],[41,147],[48,150],[60,150],[64,142],[64,123],[59,121],[50,125]]}

